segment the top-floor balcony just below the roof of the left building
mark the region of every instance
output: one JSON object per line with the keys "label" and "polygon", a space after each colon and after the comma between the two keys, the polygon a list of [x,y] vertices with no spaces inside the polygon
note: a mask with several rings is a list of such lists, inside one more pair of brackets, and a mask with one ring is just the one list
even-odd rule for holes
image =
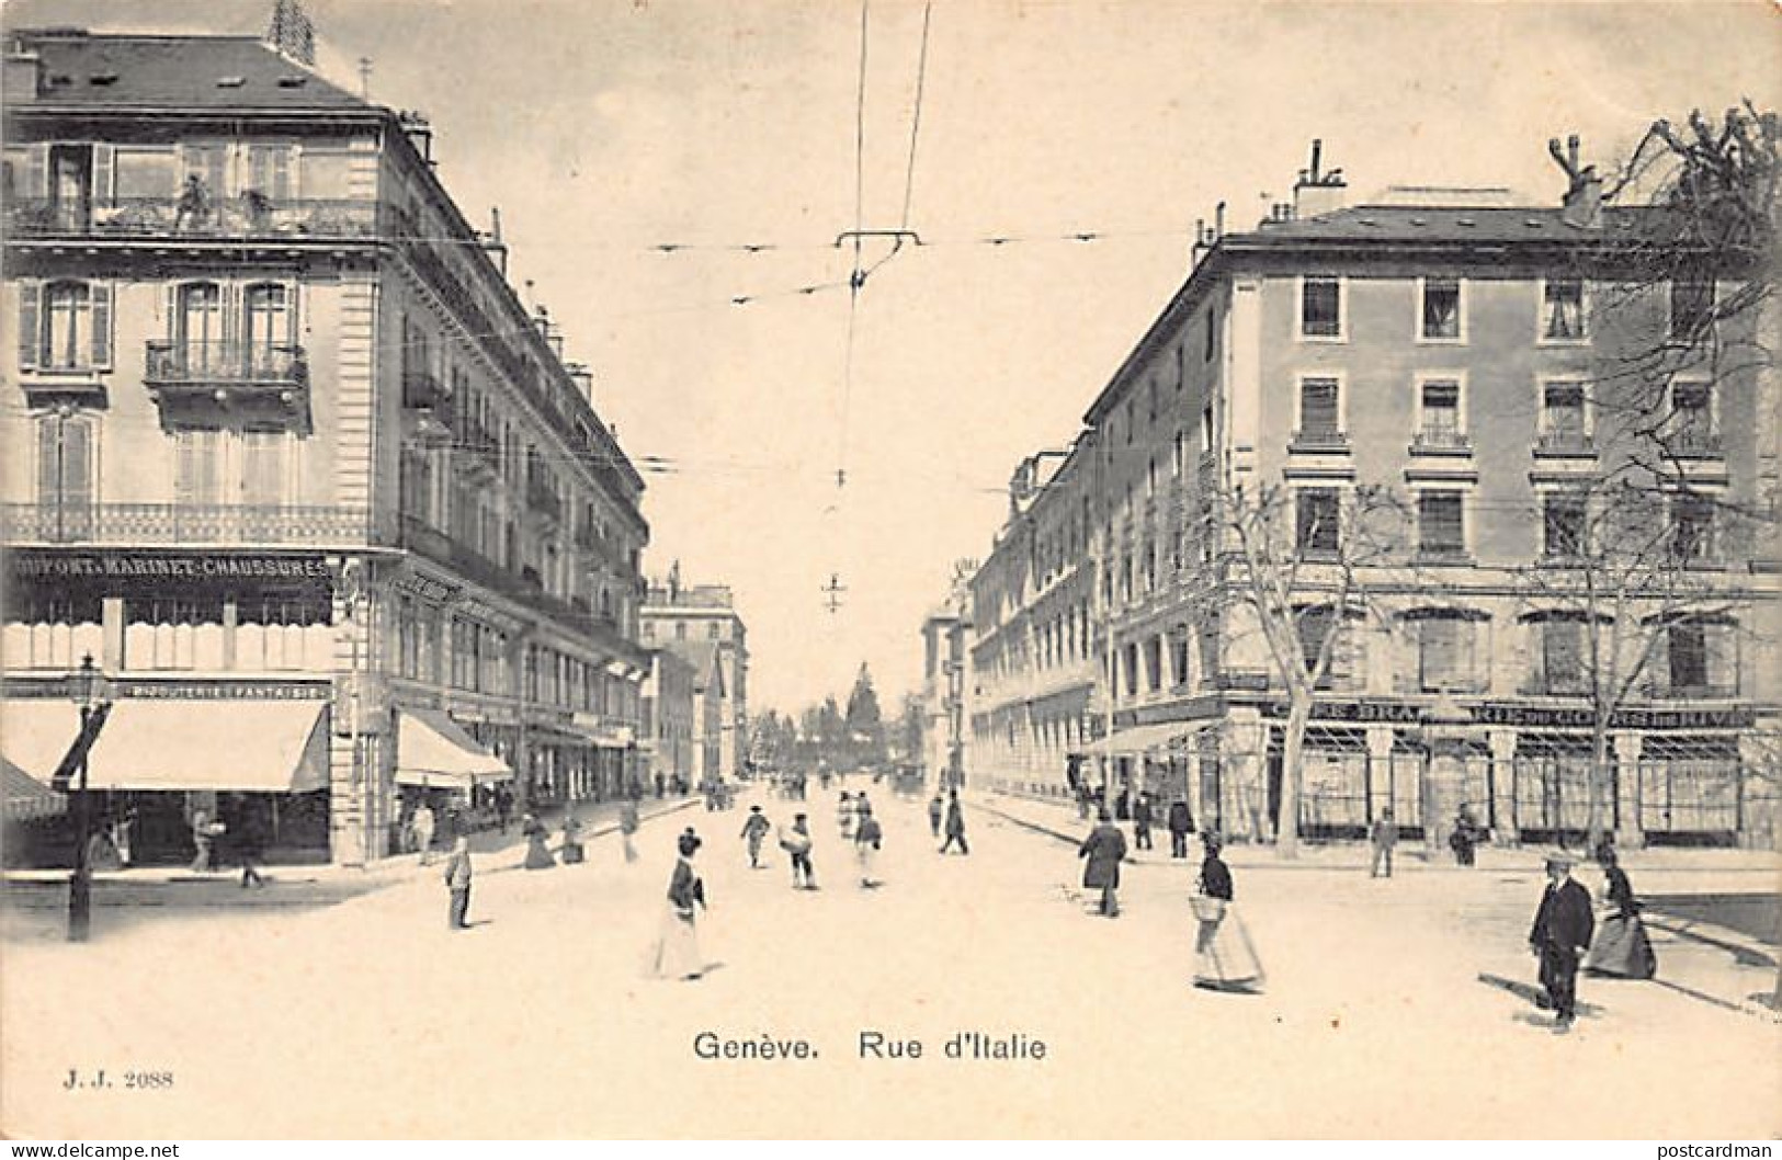
{"label": "top-floor balcony just below the roof of the left building", "polygon": [[61,201],[14,198],[7,205],[11,237],[32,239],[269,239],[342,241],[378,235],[378,203],[342,198],[241,198],[182,200],[107,198]]}

